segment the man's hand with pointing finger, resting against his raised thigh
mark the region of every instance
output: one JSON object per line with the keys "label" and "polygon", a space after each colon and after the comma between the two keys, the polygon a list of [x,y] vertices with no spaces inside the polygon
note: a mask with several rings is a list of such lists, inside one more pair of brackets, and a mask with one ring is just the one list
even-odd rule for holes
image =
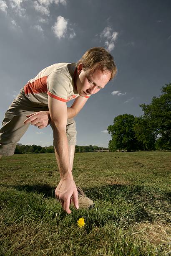
{"label": "man's hand with pointing finger, resting against his raised thigh", "polygon": [[24,124],[31,123],[32,125],[38,126],[39,129],[46,127],[50,122],[49,111],[40,111],[30,115],[26,115],[27,119]]}

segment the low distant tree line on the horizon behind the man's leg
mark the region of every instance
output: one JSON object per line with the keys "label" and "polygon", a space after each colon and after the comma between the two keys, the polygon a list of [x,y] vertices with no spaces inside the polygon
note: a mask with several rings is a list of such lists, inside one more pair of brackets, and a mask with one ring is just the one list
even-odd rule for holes
{"label": "low distant tree line on the horizon behind the man's leg", "polygon": [[[95,152],[97,150],[108,150],[108,148],[102,148],[98,146],[75,146],[75,152]],[[54,146],[42,147],[40,145],[22,145],[21,143],[17,143],[14,154],[38,154],[38,153],[55,153]]]}

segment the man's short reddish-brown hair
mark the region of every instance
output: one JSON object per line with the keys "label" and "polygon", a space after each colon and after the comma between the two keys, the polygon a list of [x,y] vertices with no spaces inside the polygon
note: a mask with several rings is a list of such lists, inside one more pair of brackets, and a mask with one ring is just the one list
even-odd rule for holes
{"label": "man's short reddish-brown hair", "polygon": [[[77,62],[76,67],[82,63],[84,71],[100,69],[102,72],[110,71],[111,79],[115,77],[117,68],[114,63],[113,56],[103,47],[93,47],[85,52],[81,59]],[[110,80],[111,80],[110,79]]]}

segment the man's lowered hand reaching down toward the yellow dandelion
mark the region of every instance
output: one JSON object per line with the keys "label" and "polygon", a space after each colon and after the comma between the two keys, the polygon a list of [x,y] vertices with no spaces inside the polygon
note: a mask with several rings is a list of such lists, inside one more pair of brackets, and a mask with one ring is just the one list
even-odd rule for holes
{"label": "man's lowered hand reaching down toward the yellow dandelion", "polygon": [[73,195],[73,203],[76,209],[79,208],[78,205],[78,191],[75,185],[75,182],[71,178],[61,179],[58,187],[55,189],[55,196],[60,201],[60,204],[63,207],[63,210],[68,214],[71,213],[70,204],[72,203],[72,199],[70,199],[71,195]]}

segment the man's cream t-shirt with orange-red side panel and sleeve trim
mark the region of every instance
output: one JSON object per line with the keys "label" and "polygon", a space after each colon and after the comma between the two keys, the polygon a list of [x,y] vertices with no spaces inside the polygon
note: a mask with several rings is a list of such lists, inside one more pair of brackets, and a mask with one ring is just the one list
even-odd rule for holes
{"label": "man's cream t-shirt with orange-red side panel and sleeve trim", "polygon": [[63,102],[77,98],[79,94],[73,79],[75,70],[76,63],[58,63],[46,67],[25,84],[25,96],[43,106],[48,106],[48,95]]}

